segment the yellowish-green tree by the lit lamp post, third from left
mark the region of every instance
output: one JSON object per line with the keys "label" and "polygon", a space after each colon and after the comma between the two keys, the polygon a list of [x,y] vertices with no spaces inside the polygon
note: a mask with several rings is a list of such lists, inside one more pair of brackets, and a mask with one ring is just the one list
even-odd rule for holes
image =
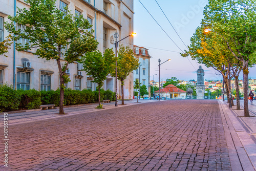
{"label": "yellowish-green tree by the lit lamp post, third from left", "polygon": [[[121,81],[121,96],[122,104],[124,104],[124,95],[123,95],[123,86],[124,80],[128,75],[131,74],[134,70],[139,68],[139,59],[134,57],[133,50],[129,46],[122,46],[118,50],[118,59],[117,59],[117,79]],[[111,74],[113,77],[116,76],[115,70]]]}

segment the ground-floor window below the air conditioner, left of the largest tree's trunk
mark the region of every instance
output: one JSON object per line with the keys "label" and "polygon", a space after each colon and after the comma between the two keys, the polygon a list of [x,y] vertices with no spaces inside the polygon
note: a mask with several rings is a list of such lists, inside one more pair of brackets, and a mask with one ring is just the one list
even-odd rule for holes
{"label": "ground-floor window below the air conditioner, left of the largest tree's trunk", "polygon": [[17,72],[17,90],[29,90],[30,73]]}

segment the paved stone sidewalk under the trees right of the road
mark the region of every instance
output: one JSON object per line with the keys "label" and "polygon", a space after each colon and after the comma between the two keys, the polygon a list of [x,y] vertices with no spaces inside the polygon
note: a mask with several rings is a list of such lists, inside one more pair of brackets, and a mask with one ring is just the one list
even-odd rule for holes
{"label": "paved stone sidewalk under the trees right of the road", "polygon": [[[240,103],[243,109],[243,101]],[[249,103],[249,113],[252,117],[243,117],[244,110],[236,110],[236,106],[230,109],[226,101],[219,101],[219,104],[225,136],[227,141],[233,142],[228,144],[232,170],[255,170],[256,105]]]}

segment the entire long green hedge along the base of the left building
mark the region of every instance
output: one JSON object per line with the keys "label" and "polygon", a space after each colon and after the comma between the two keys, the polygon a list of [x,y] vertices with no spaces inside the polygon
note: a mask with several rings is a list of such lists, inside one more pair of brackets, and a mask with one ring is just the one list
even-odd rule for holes
{"label": "entire long green hedge along the base of the left building", "polygon": [[[0,112],[13,111],[18,109],[38,109],[41,104],[55,104],[59,106],[60,90],[56,91],[37,91],[30,90],[13,90],[11,86],[0,86]],[[102,100],[115,101],[115,93],[111,90],[100,90]],[[98,91],[72,90],[64,91],[64,105],[86,104],[98,102]]]}

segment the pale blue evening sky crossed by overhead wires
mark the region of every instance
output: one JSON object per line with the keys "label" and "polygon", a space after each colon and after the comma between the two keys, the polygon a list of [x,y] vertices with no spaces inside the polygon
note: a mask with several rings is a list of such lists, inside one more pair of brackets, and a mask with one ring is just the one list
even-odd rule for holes
{"label": "pale blue evening sky crossed by overhead wires", "polygon": [[[157,3],[186,46],[172,25],[169,24]],[[160,80],[163,81],[172,77],[185,81],[197,80],[196,71],[199,66],[204,69],[204,79],[222,80],[222,76],[216,75],[215,73],[218,71],[213,68],[205,67],[196,60],[192,60],[190,56],[184,58],[180,55],[187,50],[187,46],[190,45],[190,37],[200,26],[204,17],[203,10],[207,3],[207,0],[134,0],[134,32],[137,33],[134,37],[134,45],[147,48],[148,53],[152,56],[150,61],[151,80],[153,80],[153,75],[157,74],[154,76],[154,80],[158,81],[158,59],[161,59],[160,63],[171,59],[161,65]],[[250,68],[249,72],[249,78],[256,79],[256,67]],[[242,78],[243,74],[241,73],[239,79]]]}

